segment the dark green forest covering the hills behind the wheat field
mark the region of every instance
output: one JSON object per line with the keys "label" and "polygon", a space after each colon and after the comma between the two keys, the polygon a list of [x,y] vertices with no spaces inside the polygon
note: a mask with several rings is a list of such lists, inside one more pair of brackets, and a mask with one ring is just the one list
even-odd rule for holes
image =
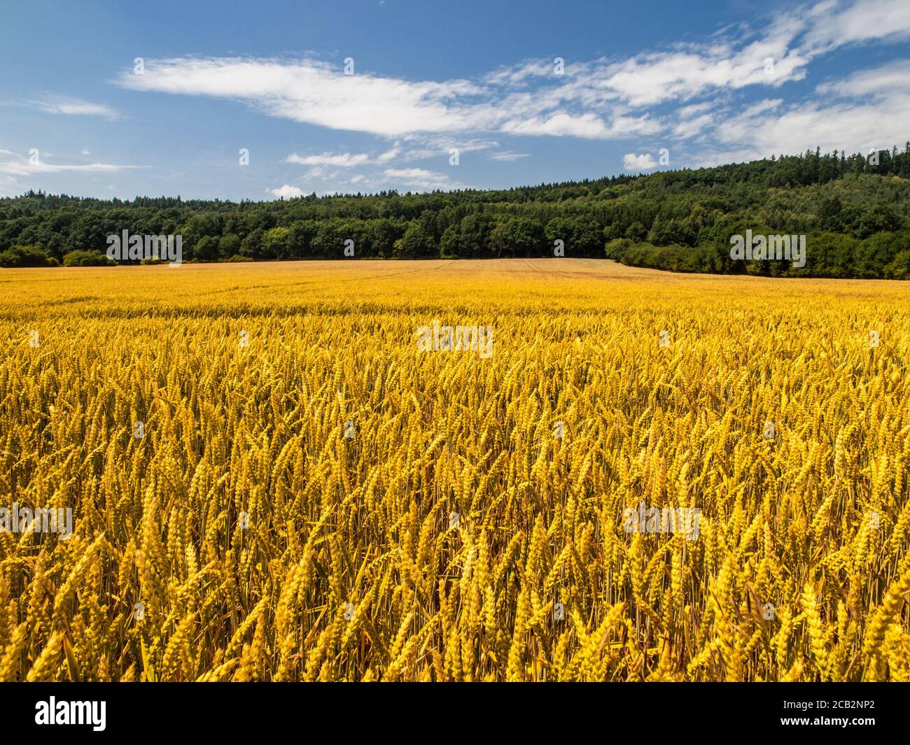
{"label": "dark green forest covering the hills behind the wheat field", "polygon": [[[803,267],[730,241],[806,236]],[[230,202],[29,191],[0,199],[0,267],[98,266],[106,237],[181,235],[183,260],[612,258],[682,272],[910,278],[910,142],[503,190]],[[353,242],[352,244],[350,242]],[[345,247],[349,247],[346,253]],[[126,263],[126,262],[120,262]]]}

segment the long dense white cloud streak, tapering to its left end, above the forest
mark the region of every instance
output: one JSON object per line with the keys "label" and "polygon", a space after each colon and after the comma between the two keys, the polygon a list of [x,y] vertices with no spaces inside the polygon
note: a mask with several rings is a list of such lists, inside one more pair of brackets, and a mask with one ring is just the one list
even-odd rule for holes
{"label": "long dense white cloud streak, tapering to its left end, above the forest", "polygon": [[[603,112],[567,107],[602,97],[598,81],[534,94],[466,80],[406,81],[358,74],[305,59],[195,58],[146,60],[145,74],[124,72],[120,86],[246,101],[269,116],[387,137],[501,132],[607,138],[642,129]],[[614,126],[615,125],[615,126]],[[645,124],[644,129],[652,129]]]}

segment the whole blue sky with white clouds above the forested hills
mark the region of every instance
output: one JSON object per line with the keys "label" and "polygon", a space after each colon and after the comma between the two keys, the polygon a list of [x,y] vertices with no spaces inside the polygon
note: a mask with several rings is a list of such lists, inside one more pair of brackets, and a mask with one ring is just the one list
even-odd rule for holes
{"label": "whole blue sky with white clouds above the forested hills", "polygon": [[500,188],[904,143],[910,0],[7,3],[0,70],[0,196]]}

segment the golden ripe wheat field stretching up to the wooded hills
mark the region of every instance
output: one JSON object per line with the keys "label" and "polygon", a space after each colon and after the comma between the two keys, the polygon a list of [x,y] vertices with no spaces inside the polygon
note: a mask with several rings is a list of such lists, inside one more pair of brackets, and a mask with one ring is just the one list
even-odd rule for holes
{"label": "golden ripe wheat field stretching up to the wooded hills", "polygon": [[[0,680],[910,680],[906,283],[0,286],[0,507],[72,508],[0,532]],[[491,355],[420,351],[434,322]],[[642,504],[699,529],[628,529]]]}

